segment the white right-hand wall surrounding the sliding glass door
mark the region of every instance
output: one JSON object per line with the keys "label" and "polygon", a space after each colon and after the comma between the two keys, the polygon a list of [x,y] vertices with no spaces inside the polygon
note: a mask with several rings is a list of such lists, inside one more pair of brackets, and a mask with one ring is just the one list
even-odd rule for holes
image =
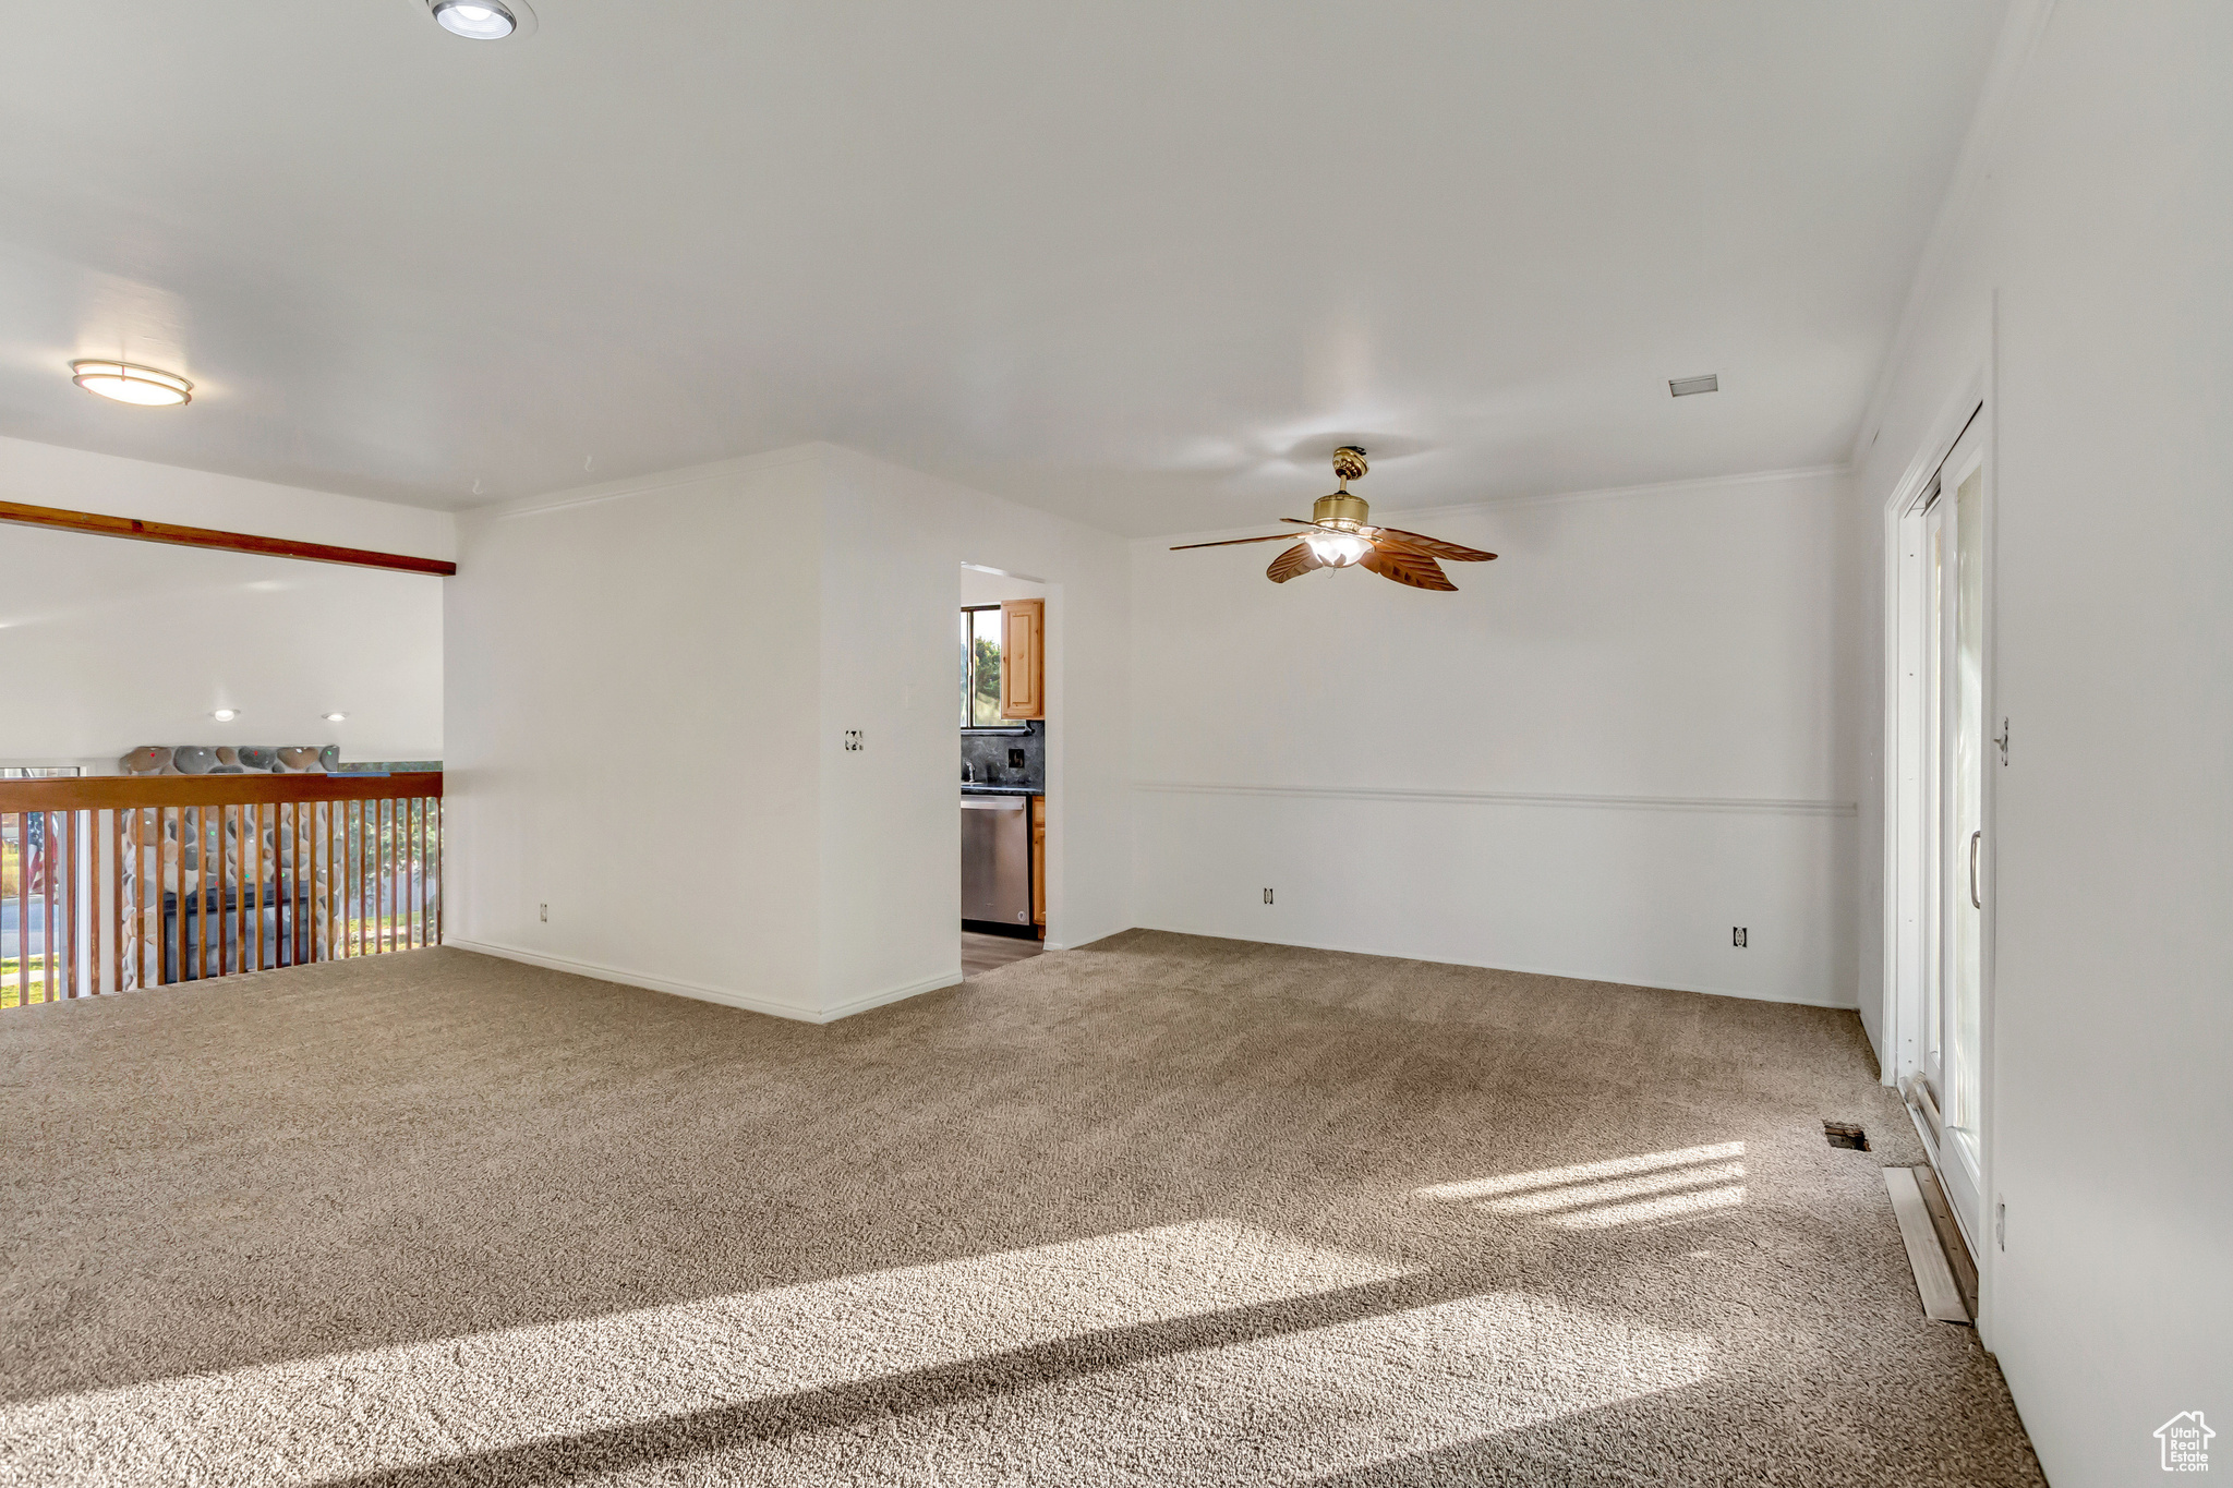
{"label": "white right-hand wall surrounding the sliding glass door", "polygon": [[[2059,1488],[2233,1441],[2233,9],[2054,7],[1862,428],[1849,531],[1990,370],[1996,910],[1985,1339]],[[1882,991],[1882,613],[1862,988]]]}

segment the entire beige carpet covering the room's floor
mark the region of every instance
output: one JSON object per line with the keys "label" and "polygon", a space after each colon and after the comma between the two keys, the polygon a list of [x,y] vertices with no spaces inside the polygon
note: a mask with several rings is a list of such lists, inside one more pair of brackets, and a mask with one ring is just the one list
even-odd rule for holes
{"label": "entire beige carpet covering the room's floor", "polygon": [[9,1011],[0,1481],[2036,1484],[1918,1158],[1851,1013],[1157,933]]}

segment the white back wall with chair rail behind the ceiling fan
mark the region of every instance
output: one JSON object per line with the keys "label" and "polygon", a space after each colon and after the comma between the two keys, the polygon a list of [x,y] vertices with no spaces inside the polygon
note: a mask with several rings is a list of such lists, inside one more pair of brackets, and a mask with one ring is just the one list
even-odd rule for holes
{"label": "white back wall with chair rail behind the ceiling fan", "polygon": [[1458,593],[1137,544],[1141,924],[1851,1006],[1842,497],[1382,513]]}

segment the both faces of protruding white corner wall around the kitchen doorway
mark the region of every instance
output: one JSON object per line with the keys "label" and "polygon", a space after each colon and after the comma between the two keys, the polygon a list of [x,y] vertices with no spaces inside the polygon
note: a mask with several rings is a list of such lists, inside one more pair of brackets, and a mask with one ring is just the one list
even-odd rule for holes
{"label": "both faces of protruding white corner wall around the kitchen doorway", "polygon": [[808,1020],[958,982],[962,562],[1050,584],[1050,939],[1125,928],[1125,544],[802,446],[460,522],[449,939]]}

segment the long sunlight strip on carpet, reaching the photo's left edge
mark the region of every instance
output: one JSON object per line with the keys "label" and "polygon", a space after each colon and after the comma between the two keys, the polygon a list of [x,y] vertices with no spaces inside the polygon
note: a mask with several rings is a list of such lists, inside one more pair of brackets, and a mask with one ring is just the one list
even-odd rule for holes
{"label": "long sunlight strip on carpet, reaching the photo's left edge", "polygon": [[1409,1272],[1199,1220],[0,1408],[25,1481],[313,1484]]}

